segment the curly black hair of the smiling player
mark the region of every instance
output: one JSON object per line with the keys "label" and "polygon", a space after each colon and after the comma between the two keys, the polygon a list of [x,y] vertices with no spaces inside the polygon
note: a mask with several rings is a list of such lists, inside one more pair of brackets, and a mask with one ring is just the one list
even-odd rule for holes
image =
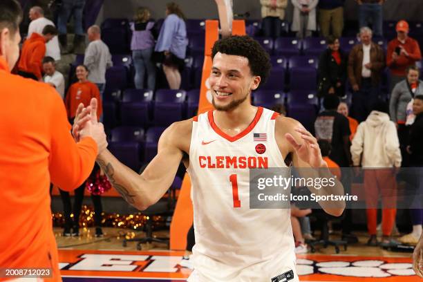
{"label": "curly black hair of the smiling player", "polygon": [[269,54],[259,42],[247,35],[227,37],[216,41],[212,49],[212,59],[218,52],[246,57],[252,75],[261,77],[260,84],[265,84],[272,65]]}

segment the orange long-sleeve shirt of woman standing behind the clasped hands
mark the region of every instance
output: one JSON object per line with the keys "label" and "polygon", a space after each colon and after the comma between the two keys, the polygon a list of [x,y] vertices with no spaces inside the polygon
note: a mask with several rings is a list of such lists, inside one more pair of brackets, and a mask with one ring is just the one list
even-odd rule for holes
{"label": "orange long-sleeve shirt of woman standing behind the clasped hands", "polygon": [[91,98],[95,98],[98,101],[97,106],[97,118],[100,118],[103,112],[102,100],[100,98],[100,91],[97,85],[93,82],[76,82],[69,87],[68,93],[66,93],[65,105],[66,111],[68,112],[68,118],[75,118],[76,110],[79,103],[84,106],[89,106]]}

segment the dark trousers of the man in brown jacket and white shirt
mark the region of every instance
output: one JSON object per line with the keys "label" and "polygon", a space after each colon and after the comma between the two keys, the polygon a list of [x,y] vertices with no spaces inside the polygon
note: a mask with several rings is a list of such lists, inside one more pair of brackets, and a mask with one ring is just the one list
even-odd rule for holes
{"label": "dark trousers of the man in brown jacket and white shirt", "polygon": [[361,79],[359,91],[353,93],[353,117],[358,122],[366,120],[378,97],[379,86],[373,85],[370,78]]}

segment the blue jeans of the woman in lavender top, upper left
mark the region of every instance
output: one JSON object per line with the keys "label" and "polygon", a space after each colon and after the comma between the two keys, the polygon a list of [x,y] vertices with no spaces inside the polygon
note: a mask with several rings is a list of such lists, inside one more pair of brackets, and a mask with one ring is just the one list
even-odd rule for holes
{"label": "blue jeans of the woman in lavender top, upper left", "polygon": [[147,69],[147,88],[154,90],[156,87],[156,66],[151,61],[153,47],[144,50],[133,50],[132,60],[135,67],[135,88],[144,88],[144,77]]}

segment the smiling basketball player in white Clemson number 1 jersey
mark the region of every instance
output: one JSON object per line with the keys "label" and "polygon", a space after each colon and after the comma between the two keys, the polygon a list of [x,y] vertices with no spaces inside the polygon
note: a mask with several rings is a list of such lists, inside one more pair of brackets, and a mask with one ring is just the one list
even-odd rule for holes
{"label": "smiling basketball player in white Clemson number 1 jersey", "polygon": [[[250,209],[249,168],[286,167],[284,159],[291,154],[294,166],[319,168],[319,177],[328,178],[327,164],[317,140],[299,122],[252,106],[251,92],[270,71],[269,56],[257,41],[247,36],[221,39],[212,58],[209,82],[215,111],[169,126],[159,140],[158,155],[141,175],[109,151],[97,162],[113,187],[141,210],[162,197],[184,162],[192,184],[196,236],[188,281],[298,281],[290,210]],[[95,109],[91,115],[96,122]],[[262,133],[261,140],[254,141],[257,133]],[[319,193],[343,195],[344,190],[337,182]],[[339,216],[345,203],[321,205]]]}

